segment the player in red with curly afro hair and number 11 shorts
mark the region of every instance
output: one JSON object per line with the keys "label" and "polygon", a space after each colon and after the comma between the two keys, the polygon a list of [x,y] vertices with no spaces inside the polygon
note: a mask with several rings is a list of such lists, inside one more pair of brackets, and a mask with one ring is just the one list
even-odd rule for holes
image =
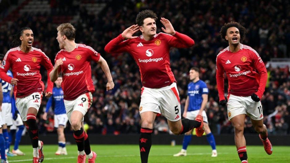
{"label": "player in red with curly afro hair and number 11 shorts", "polygon": [[267,82],[267,70],[259,54],[240,42],[246,29],[237,22],[225,23],[220,31],[229,46],[217,55],[217,90],[220,104],[225,106],[224,72],[229,81],[228,118],[234,126],[235,144],[242,163],[247,163],[246,140],[243,135],[245,117],[251,118],[255,131],[263,142],[267,154],[272,154],[272,145],[263,124],[261,97]]}

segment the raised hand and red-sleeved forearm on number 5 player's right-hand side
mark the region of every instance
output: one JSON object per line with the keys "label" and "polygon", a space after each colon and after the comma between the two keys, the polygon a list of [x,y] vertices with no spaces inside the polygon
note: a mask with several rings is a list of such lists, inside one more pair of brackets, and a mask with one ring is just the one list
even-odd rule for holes
{"label": "raised hand and red-sleeved forearm on number 5 player's right-hand side", "polygon": [[176,32],[168,19],[161,18],[160,22],[164,25],[165,28],[161,28],[165,33],[172,35],[173,37],[169,38],[169,45],[177,48],[189,48],[194,45],[193,39],[187,35]]}

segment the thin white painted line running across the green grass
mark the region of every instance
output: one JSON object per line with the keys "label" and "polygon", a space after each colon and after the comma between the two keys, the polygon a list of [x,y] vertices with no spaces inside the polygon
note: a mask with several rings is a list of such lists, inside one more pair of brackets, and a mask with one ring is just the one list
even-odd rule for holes
{"label": "thin white painted line running across the green grass", "polygon": [[[187,153],[187,155],[210,155],[212,153]],[[229,154],[229,153],[218,153],[218,154]],[[150,154],[150,156],[173,156],[173,154]],[[140,157],[140,155],[114,155],[114,156],[110,156],[110,155],[101,155],[101,156],[97,156],[97,157]],[[53,157],[53,158],[45,158],[45,160],[56,160],[56,159],[67,159],[67,158],[77,158],[77,157]],[[31,159],[27,159],[27,160],[14,160],[14,161],[9,161],[9,162],[22,162],[22,161],[32,161]]]}

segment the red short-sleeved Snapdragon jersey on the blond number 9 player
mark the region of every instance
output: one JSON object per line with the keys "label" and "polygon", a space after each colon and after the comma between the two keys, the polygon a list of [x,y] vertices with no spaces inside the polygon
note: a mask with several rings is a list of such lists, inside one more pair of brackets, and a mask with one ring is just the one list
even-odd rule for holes
{"label": "red short-sleeved Snapdragon jersey on the blond number 9 player", "polygon": [[90,62],[99,61],[100,54],[89,46],[76,44],[76,48],[71,52],[60,50],[54,61],[60,58],[64,63],[59,68],[63,77],[61,87],[64,90],[64,100],[74,100],[87,92],[93,93],[95,88]]}

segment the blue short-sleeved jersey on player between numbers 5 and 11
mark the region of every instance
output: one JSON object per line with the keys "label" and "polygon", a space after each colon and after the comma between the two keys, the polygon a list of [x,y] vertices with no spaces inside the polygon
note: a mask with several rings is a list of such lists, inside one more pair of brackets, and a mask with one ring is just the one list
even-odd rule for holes
{"label": "blue short-sleeved jersey on player between numbers 5 and 11", "polygon": [[195,111],[201,108],[202,94],[208,94],[209,89],[204,81],[198,80],[196,83],[188,84],[187,95],[189,97],[189,105],[187,111]]}

